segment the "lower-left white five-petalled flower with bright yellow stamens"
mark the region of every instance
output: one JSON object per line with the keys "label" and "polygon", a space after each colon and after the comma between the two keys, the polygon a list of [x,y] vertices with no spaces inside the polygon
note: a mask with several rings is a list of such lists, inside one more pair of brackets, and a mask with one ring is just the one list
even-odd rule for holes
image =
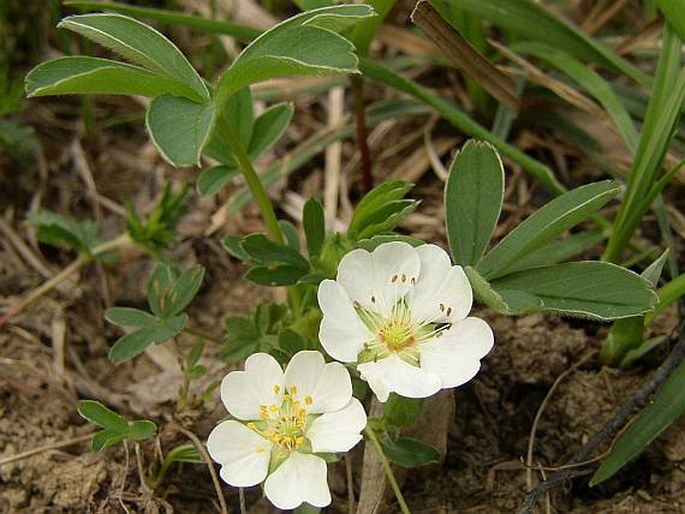
{"label": "lower-left white five-petalled flower with bright yellow stamens", "polygon": [[255,353],[245,371],[226,375],[221,399],[236,418],[220,423],[207,440],[221,478],[236,487],[266,479],[266,497],[279,509],[331,502],[326,462],[316,454],[350,450],[366,426],[342,364],[303,351],[284,373],[273,357]]}

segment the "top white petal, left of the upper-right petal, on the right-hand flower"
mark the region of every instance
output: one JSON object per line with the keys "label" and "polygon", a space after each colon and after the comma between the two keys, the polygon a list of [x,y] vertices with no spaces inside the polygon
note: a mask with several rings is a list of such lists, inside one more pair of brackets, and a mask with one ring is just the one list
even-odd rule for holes
{"label": "top white petal, left of the upper-right petal, on the right-hand flower", "polygon": [[379,245],[372,257],[376,289],[380,293],[377,310],[387,315],[397,300],[414,288],[421,271],[421,259],[414,247],[400,241]]}

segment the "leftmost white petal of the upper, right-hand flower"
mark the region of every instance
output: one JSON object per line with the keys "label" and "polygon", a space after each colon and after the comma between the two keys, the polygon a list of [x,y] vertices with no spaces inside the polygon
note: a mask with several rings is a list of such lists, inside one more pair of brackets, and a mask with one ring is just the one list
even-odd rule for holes
{"label": "leftmost white petal of the upper, right-hand flower", "polygon": [[321,282],[318,297],[323,312],[319,327],[321,345],[334,359],[356,361],[362,346],[372,336],[352,307],[352,300],[333,280]]}

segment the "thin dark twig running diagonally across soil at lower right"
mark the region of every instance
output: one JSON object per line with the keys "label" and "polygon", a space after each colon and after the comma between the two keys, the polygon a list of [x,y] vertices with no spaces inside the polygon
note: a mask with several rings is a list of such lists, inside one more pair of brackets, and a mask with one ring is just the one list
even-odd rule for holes
{"label": "thin dark twig running diagonally across soil at lower right", "polygon": [[[671,373],[678,367],[680,362],[685,357],[685,322],[680,323],[678,327],[679,338],[675,347],[671,351],[668,358],[656,370],[654,378],[644,384],[641,388],[635,391],[621,406],[613,419],[606,423],[599,431],[597,431],[590,440],[569,460],[567,465],[576,464],[588,460],[590,455],[607,439],[611,438],[613,434],[618,432],[630,419],[633,411],[643,405],[647,399],[657,390],[661,385],[671,376]],[[551,491],[566,480],[586,475],[591,470],[565,469],[550,477],[546,482],[539,483],[535,489],[530,491],[524,499],[519,513],[532,512],[537,499],[541,494]]]}

